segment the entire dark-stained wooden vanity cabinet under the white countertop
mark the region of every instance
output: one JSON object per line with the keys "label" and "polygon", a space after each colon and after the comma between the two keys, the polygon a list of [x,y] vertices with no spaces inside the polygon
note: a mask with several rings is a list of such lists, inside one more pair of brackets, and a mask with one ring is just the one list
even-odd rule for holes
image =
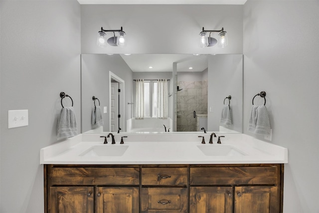
{"label": "entire dark-stained wooden vanity cabinet under the white countertop", "polygon": [[45,213],[282,213],[283,164],[44,165]]}

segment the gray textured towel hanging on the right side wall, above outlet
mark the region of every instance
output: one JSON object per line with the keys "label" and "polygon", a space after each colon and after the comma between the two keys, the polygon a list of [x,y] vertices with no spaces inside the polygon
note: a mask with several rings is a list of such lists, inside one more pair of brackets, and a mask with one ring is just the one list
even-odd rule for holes
{"label": "gray textured towel hanging on the right side wall, above outlet", "polygon": [[258,135],[270,135],[270,122],[265,105],[252,106],[248,131]]}

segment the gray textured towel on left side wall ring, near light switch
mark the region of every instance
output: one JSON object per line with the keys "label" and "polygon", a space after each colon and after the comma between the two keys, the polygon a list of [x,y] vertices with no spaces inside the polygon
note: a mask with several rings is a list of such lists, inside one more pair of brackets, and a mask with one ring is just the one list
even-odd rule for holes
{"label": "gray textured towel on left side wall ring, near light switch", "polygon": [[73,107],[64,107],[61,109],[56,132],[58,138],[68,138],[78,134]]}

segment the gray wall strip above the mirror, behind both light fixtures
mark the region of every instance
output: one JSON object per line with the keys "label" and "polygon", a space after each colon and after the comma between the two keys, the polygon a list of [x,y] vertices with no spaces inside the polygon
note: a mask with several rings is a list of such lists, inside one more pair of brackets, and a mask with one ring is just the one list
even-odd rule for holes
{"label": "gray wall strip above the mirror, behind both light fixtures", "polygon": [[[81,5],[82,53],[242,53],[243,5]],[[125,48],[96,44],[97,32],[127,33]],[[199,32],[224,29],[229,46],[198,47]],[[218,33],[213,33],[218,36]],[[112,33],[108,33],[110,37]]]}

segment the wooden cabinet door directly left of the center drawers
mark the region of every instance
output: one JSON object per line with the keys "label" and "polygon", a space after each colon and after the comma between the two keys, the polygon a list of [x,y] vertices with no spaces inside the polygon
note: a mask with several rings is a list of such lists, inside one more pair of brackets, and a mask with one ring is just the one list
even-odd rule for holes
{"label": "wooden cabinet door directly left of the center drawers", "polygon": [[139,188],[97,187],[97,213],[139,213]]}

